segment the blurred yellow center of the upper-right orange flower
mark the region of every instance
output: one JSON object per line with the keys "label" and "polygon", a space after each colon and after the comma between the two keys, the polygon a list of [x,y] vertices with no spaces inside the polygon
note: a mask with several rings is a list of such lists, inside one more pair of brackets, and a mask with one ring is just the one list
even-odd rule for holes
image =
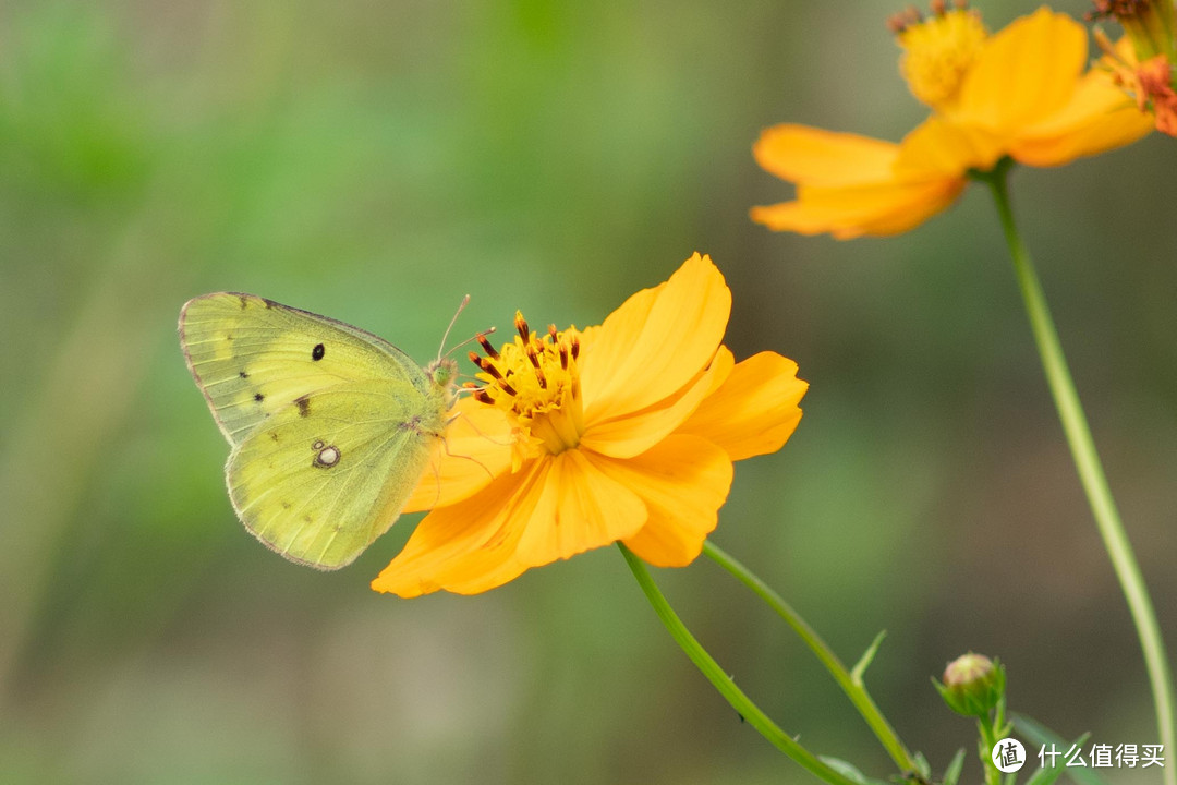
{"label": "blurred yellow center of the upper-right orange flower", "polygon": [[945,8],[940,0],[932,2],[926,19],[912,9],[890,24],[903,47],[899,71],[912,94],[932,108],[950,104],[985,44],[980,15],[960,2]]}

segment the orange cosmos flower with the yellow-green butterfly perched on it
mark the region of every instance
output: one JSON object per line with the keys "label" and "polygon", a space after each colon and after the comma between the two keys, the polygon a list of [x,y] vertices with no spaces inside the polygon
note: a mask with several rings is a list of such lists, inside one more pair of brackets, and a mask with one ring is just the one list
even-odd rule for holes
{"label": "orange cosmos flower with the yellow-green butterfly perched on it", "polygon": [[774,352],[734,362],[731,292],[707,257],[604,324],[519,337],[486,357],[406,511],[432,512],[372,588],[473,594],[530,567],[625,543],[690,564],[716,527],[732,461],[779,450],[807,387]]}

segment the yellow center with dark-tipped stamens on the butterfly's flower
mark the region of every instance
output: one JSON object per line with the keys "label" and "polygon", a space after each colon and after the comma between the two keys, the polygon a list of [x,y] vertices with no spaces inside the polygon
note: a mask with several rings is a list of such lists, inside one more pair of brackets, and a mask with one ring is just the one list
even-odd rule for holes
{"label": "yellow center with dark-tipped stamens on the butterfly's flower", "polygon": [[[531,332],[521,313],[516,312],[514,341],[498,351],[479,335],[486,357],[470,353],[483,370],[484,384],[474,393],[478,400],[504,410],[516,421],[516,444],[526,448],[539,444],[556,454],[576,447],[584,433],[580,400],[580,332],[570,327],[547,334]],[[518,460],[517,460],[518,463]]]}

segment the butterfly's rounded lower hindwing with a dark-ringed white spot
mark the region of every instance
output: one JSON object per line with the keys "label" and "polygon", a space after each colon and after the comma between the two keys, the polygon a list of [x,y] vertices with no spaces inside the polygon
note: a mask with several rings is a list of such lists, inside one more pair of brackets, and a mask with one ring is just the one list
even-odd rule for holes
{"label": "butterfly's rounded lower hindwing with a dark-ringed white spot", "polygon": [[311,393],[268,417],[230,455],[233,507],[287,559],[338,570],[397,519],[444,417],[405,381]]}

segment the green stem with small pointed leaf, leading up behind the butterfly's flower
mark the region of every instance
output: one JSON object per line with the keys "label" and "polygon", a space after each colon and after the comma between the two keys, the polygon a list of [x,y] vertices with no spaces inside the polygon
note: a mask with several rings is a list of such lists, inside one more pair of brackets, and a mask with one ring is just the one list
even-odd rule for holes
{"label": "green stem with small pointed leaf, leading up behind the butterfly's flower", "polygon": [[711,540],[705,540],[703,543],[703,552],[712,561],[718,564],[720,567],[730,572],[736,577],[742,584],[751,588],[760,599],[769,604],[773,611],[776,611],[785,623],[793,628],[793,631],[800,636],[805,645],[810,647],[813,654],[822,661],[825,670],[830,672],[833,680],[838,683],[842,691],[846,693],[850,698],[850,703],[855,704],[855,709],[858,713],[863,716],[866,724],[870,725],[875,736],[883,744],[883,747],[891,756],[891,759],[899,767],[900,771],[915,771],[916,763],[912,760],[911,753],[899,740],[896,734],[895,729],[891,727],[886,718],[883,717],[883,712],[879,711],[878,706],[871,699],[870,693],[866,692],[866,686],[863,684],[860,674],[851,673],[846,670],[846,666],[842,664],[838,656],[833,653],[830,646],[826,645],[822,637],[805,623],[805,619],[800,617],[780,597],[777,592],[772,591],[763,580],[756,577],[752,571],[745,567],[743,564],[733,559],[726,552],[724,552],[718,545]]}

